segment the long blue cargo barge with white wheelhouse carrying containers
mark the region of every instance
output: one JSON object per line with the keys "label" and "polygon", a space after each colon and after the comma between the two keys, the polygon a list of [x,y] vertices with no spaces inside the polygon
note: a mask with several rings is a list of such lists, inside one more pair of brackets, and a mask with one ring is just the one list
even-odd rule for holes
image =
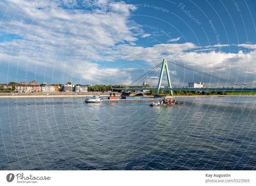
{"label": "long blue cargo barge with white wheelhouse carrying containers", "polygon": [[113,96],[113,97],[100,97],[93,96],[86,98],[86,103],[121,103],[121,102],[152,102],[159,101],[162,98],[149,98],[145,96]]}

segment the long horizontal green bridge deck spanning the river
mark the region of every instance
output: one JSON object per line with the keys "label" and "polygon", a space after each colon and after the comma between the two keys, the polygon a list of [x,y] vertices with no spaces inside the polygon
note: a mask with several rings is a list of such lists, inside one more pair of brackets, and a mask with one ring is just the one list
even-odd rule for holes
{"label": "long horizontal green bridge deck spanning the river", "polygon": [[[148,87],[148,88],[116,88],[114,90],[157,90],[157,87]],[[160,88],[162,91],[212,91],[212,92],[256,92],[256,88],[189,88],[189,87],[173,87],[173,88]]]}

